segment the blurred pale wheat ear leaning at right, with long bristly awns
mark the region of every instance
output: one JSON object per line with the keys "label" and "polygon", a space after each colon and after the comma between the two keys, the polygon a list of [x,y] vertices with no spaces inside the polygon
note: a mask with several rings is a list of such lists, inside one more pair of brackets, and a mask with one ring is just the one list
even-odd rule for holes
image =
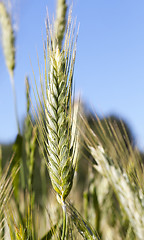
{"label": "blurred pale wheat ear leaning at right, with long bristly awns", "polygon": [[94,131],[83,118],[87,128],[85,141],[95,160],[93,166],[114,190],[121,211],[130,223],[130,231],[132,228],[136,239],[143,240],[144,174],[142,159],[136,153],[136,149],[131,146],[123,125],[124,134],[121,135],[118,126],[116,124],[113,126],[110,120],[104,119],[105,128],[98,118],[97,120],[97,131]]}

